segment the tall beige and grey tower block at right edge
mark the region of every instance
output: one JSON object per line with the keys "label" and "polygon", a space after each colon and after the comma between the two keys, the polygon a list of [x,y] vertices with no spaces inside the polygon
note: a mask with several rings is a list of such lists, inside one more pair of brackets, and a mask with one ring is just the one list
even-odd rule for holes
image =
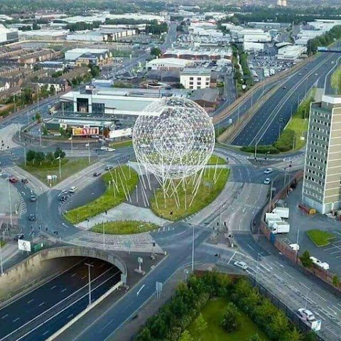
{"label": "tall beige and grey tower block at right edge", "polygon": [[302,200],[325,214],[341,206],[341,96],[310,107]]}

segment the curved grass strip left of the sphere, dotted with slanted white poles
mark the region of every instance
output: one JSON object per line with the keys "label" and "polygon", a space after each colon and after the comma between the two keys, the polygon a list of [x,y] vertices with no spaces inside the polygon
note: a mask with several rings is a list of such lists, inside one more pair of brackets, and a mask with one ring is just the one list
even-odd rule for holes
{"label": "curved grass strip left of the sphere, dotted with slanted white poles", "polygon": [[125,193],[131,193],[139,180],[136,171],[128,166],[121,166],[102,175],[107,186],[104,194],[86,205],[76,207],[65,214],[65,218],[72,224],[77,224],[87,218],[99,215],[126,200]]}

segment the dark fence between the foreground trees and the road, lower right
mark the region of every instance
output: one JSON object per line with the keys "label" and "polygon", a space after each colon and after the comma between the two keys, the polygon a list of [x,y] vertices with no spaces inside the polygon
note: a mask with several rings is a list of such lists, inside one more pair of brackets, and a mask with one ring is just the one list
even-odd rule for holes
{"label": "dark fence between the foreground trees and the road, lower right", "polygon": [[[253,277],[249,277],[249,282],[250,282],[251,286],[253,286],[254,288],[258,288],[259,293],[261,293],[262,296],[268,298],[276,308],[278,308],[279,310],[282,310],[283,313],[286,314],[286,317],[289,320],[291,320],[291,323],[296,325],[298,327],[298,329],[301,330],[301,332],[304,332],[304,333],[311,332],[311,328],[309,327],[309,325],[304,323],[303,320],[301,320],[301,318],[299,318],[298,315],[295,312],[293,312],[293,310],[291,310],[284,303],[279,301],[278,298],[276,298],[276,296],[274,296],[264,286],[262,286],[260,283],[256,282],[256,280]],[[327,340],[323,339],[323,337],[320,337],[319,335],[317,335],[316,340],[317,341],[327,341]]]}

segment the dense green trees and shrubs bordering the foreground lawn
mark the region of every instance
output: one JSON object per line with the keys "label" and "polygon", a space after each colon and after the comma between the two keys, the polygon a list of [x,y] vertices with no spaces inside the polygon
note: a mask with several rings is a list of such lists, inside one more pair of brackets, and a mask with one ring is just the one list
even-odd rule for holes
{"label": "dense green trees and shrubs bordering the foreground lawn", "polygon": [[[190,276],[187,284],[180,284],[175,295],[149,318],[136,336],[136,341],[191,341],[202,338],[205,320],[200,311],[207,302],[216,297],[232,301],[226,307],[221,323],[225,330],[232,332],[239,328],[239,309],[264,330],[273,341],[313,341],[315,334],[302,335],[290,323],[286,315],[278,310],[268,298],[261,296],[251,287],[247,279],[232,279],[224,274],[210,272],[203,277]],[[238,309],[237,309],[238,307]],[[195,321],[195,322],[193,322]],[[194,323],[193,334],[188,327]],[[193,337],[191,339],[190,337]],[[259,340],[254,335],[251,340]]]}

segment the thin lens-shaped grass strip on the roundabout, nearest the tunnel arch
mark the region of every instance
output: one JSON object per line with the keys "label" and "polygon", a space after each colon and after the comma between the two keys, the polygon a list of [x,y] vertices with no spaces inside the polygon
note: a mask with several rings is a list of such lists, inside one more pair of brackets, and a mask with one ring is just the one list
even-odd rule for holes
{"label": "thin lens-shaped grass strip on the roundabout, nearest the tunnel arch", "polygon": [[[139,220],[117,220],[104,223],[105,234],[135,234],[151,231],[158,228],[158,225],[151,222]],[[103,224],[97,224],[90,229],[92,232],[103,233]]]}

